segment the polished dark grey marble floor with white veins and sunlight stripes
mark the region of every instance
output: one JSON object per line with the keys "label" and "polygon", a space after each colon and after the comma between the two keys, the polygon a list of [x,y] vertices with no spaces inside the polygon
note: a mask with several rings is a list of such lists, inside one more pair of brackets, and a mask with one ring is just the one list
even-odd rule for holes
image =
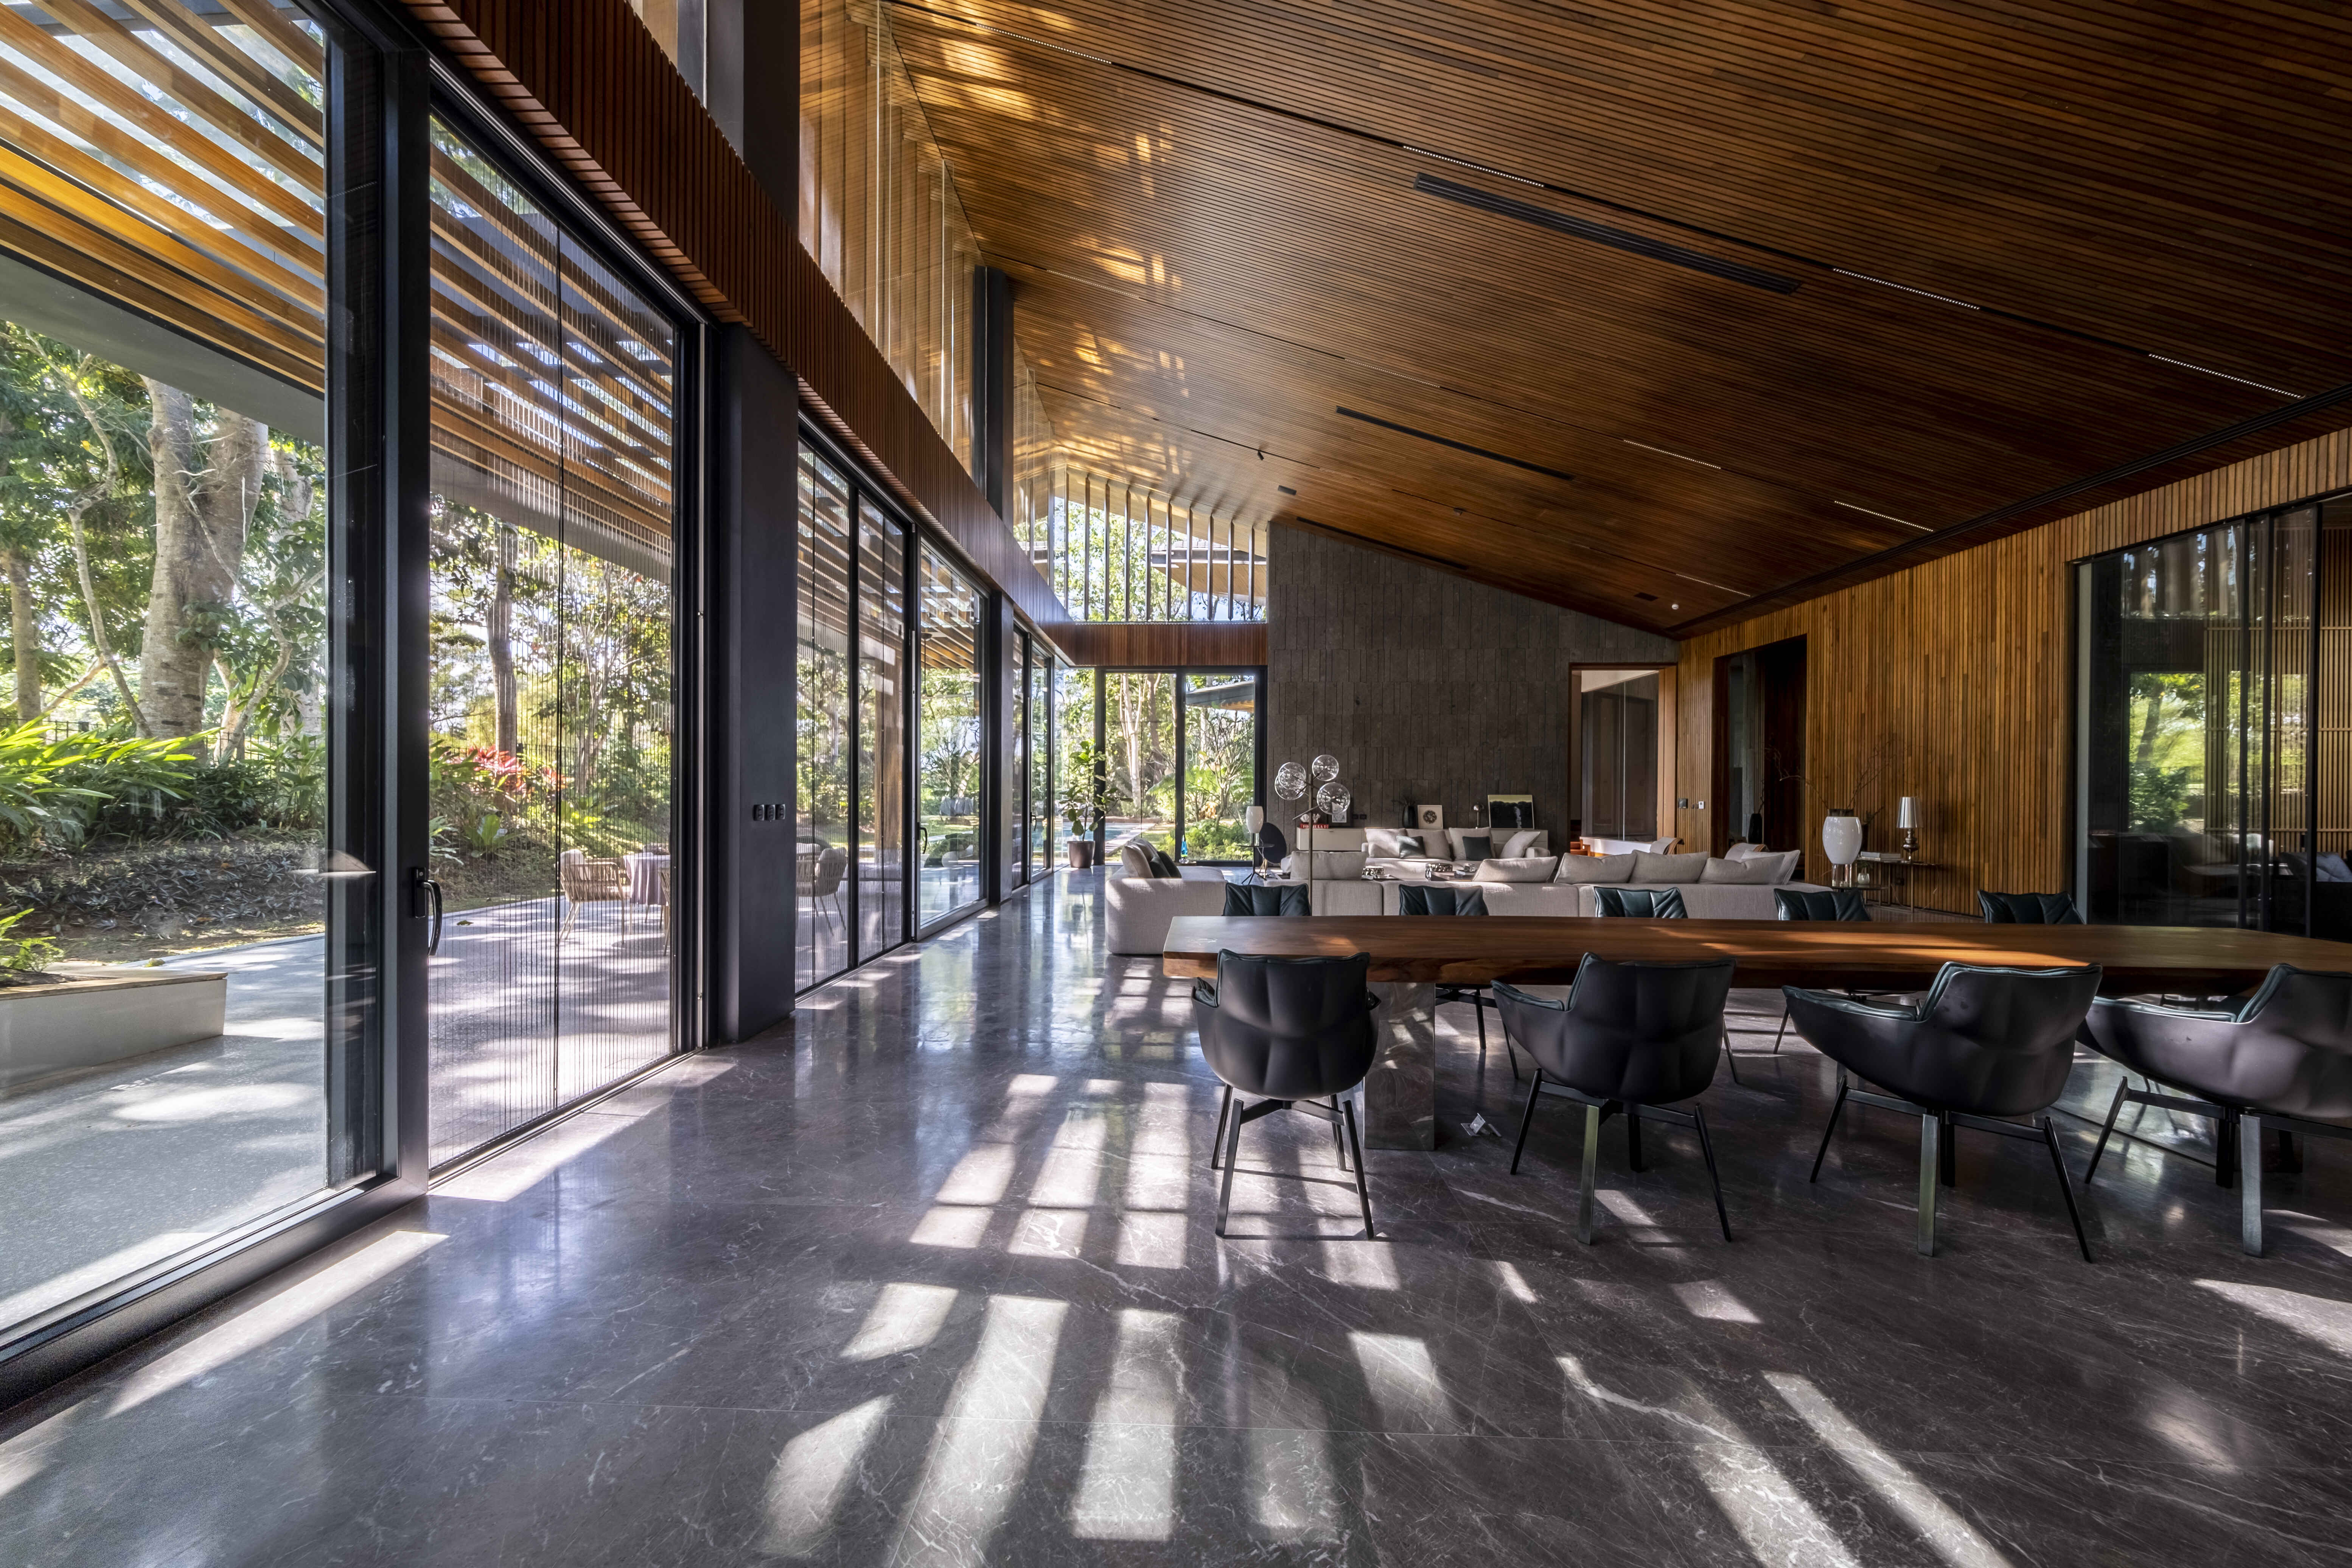
{"label": "polished dark grey marble floor with white veins and sunlight stripes", "polygon": [[1750,994],[1738,1241],[1611,1126],[1585,1248],[1573,1119],[1508,1175],[1446,1023],[1376,1241],[1275,1117],[1221,1244],[1183,994],[1056,877],[7,1413],[0,1563],[2352,1561],[2340,1152],[2253,1260],[2126,1145],[2084,1265],[2037,1150],[1964,1138],[1924,1260],[1912,1124],[1809,1185],[1828,1070]]}

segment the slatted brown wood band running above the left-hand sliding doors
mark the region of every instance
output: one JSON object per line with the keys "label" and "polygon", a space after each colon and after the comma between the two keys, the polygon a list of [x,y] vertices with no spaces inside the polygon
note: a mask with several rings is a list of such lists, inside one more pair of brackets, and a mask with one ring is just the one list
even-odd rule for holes
{"label": "slatted brown wood band running above the left-hand sliding doors", "polygon": [[788,364],[807,411],[898,501],[1047,635],[1068,618],[800,247],[795,214],[769,200],[628,0],[407,0],[407,9],[647,256]]}

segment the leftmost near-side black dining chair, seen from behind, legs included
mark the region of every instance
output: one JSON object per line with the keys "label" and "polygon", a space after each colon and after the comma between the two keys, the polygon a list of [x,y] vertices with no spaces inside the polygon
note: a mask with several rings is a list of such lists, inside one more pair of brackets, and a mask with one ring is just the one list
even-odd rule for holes
{"label": "leftmost near-side black dining chair, seen from behind, legs included", "polygon": [[[1371,1237],[1364,1143],[1355,1126],[1355,1100],[1348,1098],[1381,1051],[1381,1030],[1371,1016],[1381,1001],[1364,983],[1369,973],[1369,952],[1343,959],[1218,952],[1216,985],[1192,980],[1200,1053],[1225,1084],[1216,1140],[1209,1145],[1209,1168],[1218,1166],[1218,1154],[1225,1166],[1225,1182],[1216,1194],[1216,1234],[1225,1234],[1232,1208],[1232,1159],[1242,1145],[1242,1126],[1277,1110],[1296,1110],[1331,1124],[1331,1147],[1341,1171],[1355,1171],[1364,1237]],[[1235,1095],[1263,1098],[1249,1105]]]}

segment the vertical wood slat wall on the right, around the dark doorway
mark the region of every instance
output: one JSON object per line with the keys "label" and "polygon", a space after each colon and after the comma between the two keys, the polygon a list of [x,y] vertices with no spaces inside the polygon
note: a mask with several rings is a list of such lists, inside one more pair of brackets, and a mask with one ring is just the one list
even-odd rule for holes
{"label": "vertical wood slat wall on the right, around the dark doorway", "polygon": [[[1870,849],[1896,849],[1896,799],[1915,795],[1919,858],[1943,867],[1915,875],[1917,903],[1973,914],[1976,889],[2065,886],[2070,562],[2345,487],[2352,430],[1684,642],[1675,795],[1703,799],[1708,811],[1677,809],[1677,832],[1686,844],[1710,844],[1710,813],[1722,809],[1715,661],[1804,637],[1806,877],[1828,877],[1820,818],[1830,806],[1879,806]],[[2326,569],[2343,571],[2336,562]],[[2343,661],[2340,651],[2331,656]],[[1875,752],[1884,752],[1884,776],[1856,799]]]}

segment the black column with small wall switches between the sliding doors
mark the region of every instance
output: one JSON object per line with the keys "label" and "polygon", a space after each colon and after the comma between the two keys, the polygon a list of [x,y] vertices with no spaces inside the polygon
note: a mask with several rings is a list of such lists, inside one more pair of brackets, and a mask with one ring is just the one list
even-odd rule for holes
{"label": "black column with small wall switches between the sliding doors", "polygon": [[793,1016],[800,395],[746,329],[710,334],[710,1034]]}

